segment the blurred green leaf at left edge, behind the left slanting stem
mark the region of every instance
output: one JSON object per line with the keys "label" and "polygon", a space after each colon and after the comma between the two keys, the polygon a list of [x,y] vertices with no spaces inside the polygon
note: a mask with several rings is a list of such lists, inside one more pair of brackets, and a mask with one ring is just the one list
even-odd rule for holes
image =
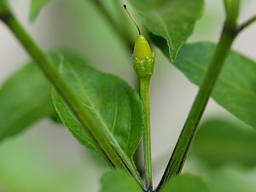
{"label": "blurred green leaf at left edge, behind the left slanting stem", "polygon": [[11,76],[0,89],[0,140],[15,136],[38,119],[54,117],[51,87],[34,63]]}

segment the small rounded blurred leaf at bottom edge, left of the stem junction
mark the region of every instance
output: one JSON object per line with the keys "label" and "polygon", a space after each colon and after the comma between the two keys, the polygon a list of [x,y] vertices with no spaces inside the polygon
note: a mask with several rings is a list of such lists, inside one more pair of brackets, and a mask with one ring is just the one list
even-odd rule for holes
{"label": "small rounded blurred leaf at bottom edge, left of the stem junction", "polygon": [[137,181],[125,172],[113,170],[102,177],[100,192],[143,192]]}

